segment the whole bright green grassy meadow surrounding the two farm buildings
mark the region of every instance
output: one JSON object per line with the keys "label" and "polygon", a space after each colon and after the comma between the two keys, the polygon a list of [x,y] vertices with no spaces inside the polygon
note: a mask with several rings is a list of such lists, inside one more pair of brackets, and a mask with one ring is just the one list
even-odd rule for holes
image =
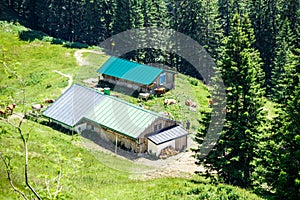
{"label": "whole bright green grassy meadow surrounding the two farm buildings", "polygon": [[[43,40],[20,40],[18,31],[21,30],[25,28],[0,22],[2,107],[12,102],[20,104],[24,94],[25,109],[31,104],[41,103],[45,98],[56,99],[68,85],[68,78],[53,70],[72,75],[74,82],[81,82],[97,76],[94,70],[107,59],[104,54],[83,53],[83,58],[90,64],[79,66],[74,58],[77,49]],[[8,73],[4,64],[23,80],[23,84]],[[184,102],[190,98],[198,103],[198,111],[208,110],[208,90],[199,81],[183,75],[178,75],[176,81],[176,90],[143,105],[157,112],[170,112],[174,119],[182,122],[191,119],[196,130],[197,119],[201,116],[199,112],[190,111]],[[127,101],[138,103],[136,98],[119,95]],[[165,108],[164,98],[175,98],[179,103]],[[22,106],[17,106],[16,112],[21,109]],[[17,122],[17,119],[11,120]],[[196,175],[191,178],[144,179],[142,175],[152,168],[96,149],[87,149],[83,142],[91,141],[78,135],[67,135],[33,121],[25,121],[22,128],[28,136],[30,183],[43,199],[260,199],[250,191],[221,183],[209,184]],[[17,130],[4,122],[0,122],[0,144],[0,152],[13,166],[14,184],[29,194],[23,179],[24,150],[21,140]],[[59,192],[58,186],[61,186]],[[20,199],[9,185],[2,161],[0,199]]]}

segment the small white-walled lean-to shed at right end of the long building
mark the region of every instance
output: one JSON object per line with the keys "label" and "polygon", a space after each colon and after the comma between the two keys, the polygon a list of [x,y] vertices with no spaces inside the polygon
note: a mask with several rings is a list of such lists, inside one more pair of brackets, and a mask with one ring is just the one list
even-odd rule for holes
{"label": "small white-walled lean-to shed at right end of the long building", "polygon": [[182,151],[187,147],[188,132],[181,126],[175,126],[148,137],[148,151],[158,156],[166,147]]}

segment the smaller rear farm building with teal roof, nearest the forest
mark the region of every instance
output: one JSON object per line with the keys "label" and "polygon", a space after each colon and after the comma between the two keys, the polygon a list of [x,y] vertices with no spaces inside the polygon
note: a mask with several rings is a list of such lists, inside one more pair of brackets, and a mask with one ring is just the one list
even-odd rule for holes
{"label": "smaller rear farm building with teal roof, nearest the forest", "polygon": [[150,92],[155,88],[175,87],[175,72],[110,57],[97,71],[109,83]]}

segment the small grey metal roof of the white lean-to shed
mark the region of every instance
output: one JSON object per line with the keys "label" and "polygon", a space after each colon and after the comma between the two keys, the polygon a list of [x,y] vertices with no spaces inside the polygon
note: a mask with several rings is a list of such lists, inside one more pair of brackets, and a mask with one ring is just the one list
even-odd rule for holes
{"label": "small grey metal roof of the white lean-to shed", "polygon": [[156,135],[151,135],[148,139],[155,144],[162,144],[185,135],[188,135],[186,130],[184,130],[181,126],[175,126]]}

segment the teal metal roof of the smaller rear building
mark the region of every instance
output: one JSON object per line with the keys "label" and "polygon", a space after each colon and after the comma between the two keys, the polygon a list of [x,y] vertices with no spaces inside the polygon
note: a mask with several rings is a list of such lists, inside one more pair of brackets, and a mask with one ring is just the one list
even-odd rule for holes
{"label": "teal metal roof of the smaller rear building", "polygon": [[110,57],[97,72],[143,85],[150,85],[163,70],[116,57]]}

